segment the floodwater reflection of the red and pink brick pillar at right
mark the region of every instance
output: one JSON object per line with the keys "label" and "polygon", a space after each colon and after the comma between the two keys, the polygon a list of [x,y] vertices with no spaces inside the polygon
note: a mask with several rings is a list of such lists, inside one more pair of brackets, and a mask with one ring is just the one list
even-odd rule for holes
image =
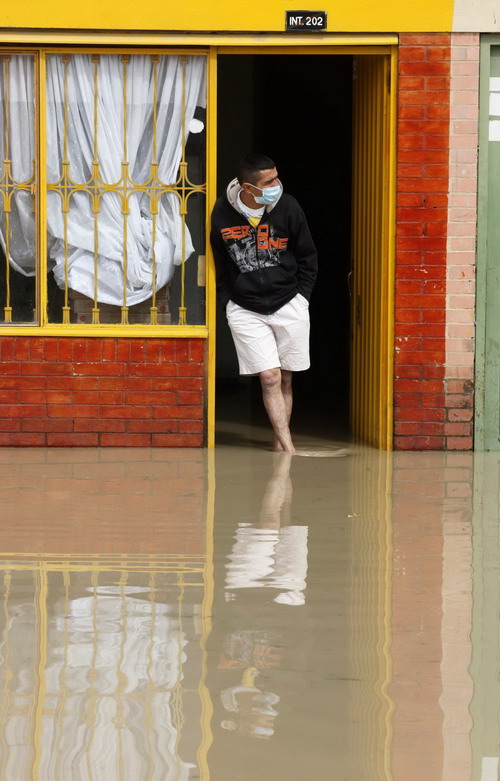
{"label": "floodwater reflection of the red and pink brick pillar at right", "polygon": [[401,454],[395,461],[395,781],[470,778],[471,482],[469,454]]}

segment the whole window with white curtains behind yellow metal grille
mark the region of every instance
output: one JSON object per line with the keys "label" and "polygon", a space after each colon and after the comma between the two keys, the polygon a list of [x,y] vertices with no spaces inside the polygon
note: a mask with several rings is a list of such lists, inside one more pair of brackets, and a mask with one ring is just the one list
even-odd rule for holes
{"label": "whole window with white curtains behind yellow metal grille", "polygon": [[205,109],[202,54],[0,55],[0,322],[204,324]]}

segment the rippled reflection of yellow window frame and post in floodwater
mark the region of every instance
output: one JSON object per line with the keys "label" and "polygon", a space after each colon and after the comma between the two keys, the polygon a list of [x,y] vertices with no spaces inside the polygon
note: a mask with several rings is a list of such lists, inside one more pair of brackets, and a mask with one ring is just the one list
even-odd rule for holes
{"label": "rippled reflection of yellow window frame and post in floodwater", "polygon": [[[10,592],[10,573],[19,571],[31,571],[38,575],[38,586],[35,592],[36,633],[38,637],[38,662],[36,665],[36,691],[33,694],[35,702],[33,713],[33,764],[32,777],[39,777],[40,762],[42,757],[42,730],[43,714],[46,693],[46,665],[47,665],[47,634],[48,634],[48,575],[51,572],[61,572],[66,588],[69,587],[69,575],[71,573],[91,573],[91,583],[97,586],[100,572],[120,573],[118,584],[123,589],[127,577],[131,573],[148,573],[154,582],[156,573],[171,573],[177,575],[177,585],[180,588],[179,597],[179,624],[182,626],[182,598],[185,588],[203,588],[202,600],[202,633],[200,637],[201,670],[198,685],[198,693],[201,704],[201,734],[202,740],[197,751],[198,766],[201,781],[209,781],[210,771],[207,754],[212,744],[212,700],[206,685],[207,679],[207,640],[212,629],[211,614],[214,593],[213,575],[213,524],[215,508],[215,467],[214,452],[208,454],[208,480],[206,486],[205,503],[205,553],[204,554],[150,554],[140,555],[109,555],[109,554],[29,554],[29,553],[1,553],[0,573],[3,573],[5,594],[3,598],[3,611],[7,618],[8,596]],[[185,576],[192,575],[190,581]],[[123,595],[123,591],[122,591]],[[65,612],[67,615],[67,610]],[[5,622],[6,634],[8,634],[8,621]],[[95,629],[94,629],[95,634]],[[66,639],[66,638],[65,638]],[[122,643],[122,648],[124,643]],[[5,696],[5,692],[4,692]],[[120,778],[121,778],[120,772]]]}

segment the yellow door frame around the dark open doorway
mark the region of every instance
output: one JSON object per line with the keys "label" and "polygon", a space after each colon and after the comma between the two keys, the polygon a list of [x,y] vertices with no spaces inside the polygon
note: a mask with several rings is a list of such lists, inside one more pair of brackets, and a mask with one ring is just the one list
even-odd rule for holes
{"label": "yellow door frame around the dark open doorway", "polygon": [[[302,37],[302,36],[301,36]],[[303,36],[304,38],[306,36]],[[323,37],[323,36],[322,36]],[[246,38],[241,36],[241,38]],[[329,55],[385,55],[387,57],[387,70],[390,75],[390,95],[389,100],[384,105],[384,124],[386,128],[387,144],[387,165],[384,175],[384,203],[382,206],[382,253],[383,253],[383,275],[381,281],[381,334],[380,344],[380,396],[378,405],[377,421],[371,421],[370,430],[363,432],[361,438],[376,444],[382,450],[391,450],[393,441],[393,345],[394,345],[394,267],[395,267],[395,204],[396,204],[396,85],[397,85],[397,36],[381,35],[379,40],[377,36],[363,37],[360,41],[358,36],[343,36],[341,41],[329,42],[325,45],[324,40],[316,39],[314,36],[308,36],[307,42],[301,44],[288,39],[278,39],[270,41],[269,38],[262,36],[258,43],[249,44],[247,40],[241,42],[233,41],[231,44],[211,47],[212,67],[209,69],[211,74],[209,89],[209,143],[207,168],[212,171],[210,177],[210,189],[208,192],[208,205],[215,203],[216,176],[217,170],[217,126],[216,116],[216,98],[217,98],[217,77],[216,65],[217,55],[219,54],[329,54]],[[211,201],[210,199],[213,198]],[[207,247],[209,247],[207,239]],[[215,444],[215,280],[214,263],[210,254],[210,273],[207,278],[207,298],[208,298],[208,408],[207,408],[207,431],[209,447]],[[376,434],[374,435],[374,430]]]}

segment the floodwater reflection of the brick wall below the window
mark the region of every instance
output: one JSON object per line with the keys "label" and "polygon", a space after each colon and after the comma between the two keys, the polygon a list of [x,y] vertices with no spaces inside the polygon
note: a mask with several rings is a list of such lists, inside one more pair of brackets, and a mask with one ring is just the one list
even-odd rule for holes
{"label": "floodwater reflection of the brick wall below the window", "polygon": [[0,451],[2,551],[205,553],[201,450]]}

